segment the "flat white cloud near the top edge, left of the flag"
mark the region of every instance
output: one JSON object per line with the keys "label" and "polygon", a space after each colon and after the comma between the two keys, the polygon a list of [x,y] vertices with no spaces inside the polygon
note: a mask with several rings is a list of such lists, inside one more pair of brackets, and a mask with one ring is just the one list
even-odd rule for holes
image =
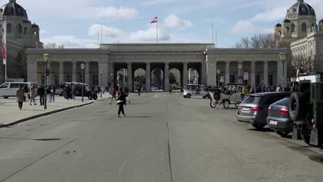
{"label": "flat white cloud near the top edge, left of the flag", "polygon": [[93,14],[100,18],[110,19],[133,19],[138,15],[138,11],[135,8],[115,8],[109,7],[92,7]]}

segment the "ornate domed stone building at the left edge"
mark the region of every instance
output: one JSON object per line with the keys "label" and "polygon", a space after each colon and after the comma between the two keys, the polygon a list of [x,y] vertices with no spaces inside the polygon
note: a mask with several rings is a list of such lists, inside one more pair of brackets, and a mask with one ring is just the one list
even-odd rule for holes
{"label": "ornate domed stone building at the left edge", "polygon": [[[6,28],[4,28],[6,26]],[[26,65],[20,65],[17,56],[24,54],[27,48],[42,48],[39,41],[39,26],[28,20],[26,10],[16,0],[9,0],[0,8],[0,30],[6,29],[7,34],[7,70],[8,78],[21,79],[19,72],[25,72]],[[3,31],[0,31],[3,39]],[[19,78],[18,78],[19,77]],[[4,81],[4,65],[0,61],[0,83]]]}

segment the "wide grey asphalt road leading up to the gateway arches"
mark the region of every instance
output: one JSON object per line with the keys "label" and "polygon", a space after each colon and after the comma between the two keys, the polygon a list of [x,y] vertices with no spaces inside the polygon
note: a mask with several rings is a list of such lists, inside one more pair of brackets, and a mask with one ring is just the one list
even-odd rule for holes
{"label": "wide grey asphalt road leading up to the gateway arches", "polygon": [[0,129],[0,182],[323,181],[322,149],[291,143],[179,94],[97,101]]}

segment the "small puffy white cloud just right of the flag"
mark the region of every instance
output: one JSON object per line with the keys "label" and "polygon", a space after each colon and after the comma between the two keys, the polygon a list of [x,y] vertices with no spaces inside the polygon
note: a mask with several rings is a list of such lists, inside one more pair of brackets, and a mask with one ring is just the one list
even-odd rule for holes
{"label": "small puffy white cloud just right of the flag", "polygon": [[180,19],[175,14],[170,14],[164,19],[164,23],[162,25],[165,28],[185,29],[193,26],[193,23],[189,20]]}

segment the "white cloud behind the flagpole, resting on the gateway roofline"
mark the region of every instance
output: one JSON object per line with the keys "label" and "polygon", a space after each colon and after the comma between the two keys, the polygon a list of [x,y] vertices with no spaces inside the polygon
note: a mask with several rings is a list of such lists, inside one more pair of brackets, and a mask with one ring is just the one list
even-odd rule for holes
{"label": "white cloud behind the flagpole, resting on the gateway roofline", "polygon": [[[156,33],[156,28],[150,27],[146,30],[138,30],[137,32],[130,33],[129,39],[130,41],[155,42]],[[158,39],[159,41],[169,41],[170,35],[166,34],[163,30],[158,29]]]}

